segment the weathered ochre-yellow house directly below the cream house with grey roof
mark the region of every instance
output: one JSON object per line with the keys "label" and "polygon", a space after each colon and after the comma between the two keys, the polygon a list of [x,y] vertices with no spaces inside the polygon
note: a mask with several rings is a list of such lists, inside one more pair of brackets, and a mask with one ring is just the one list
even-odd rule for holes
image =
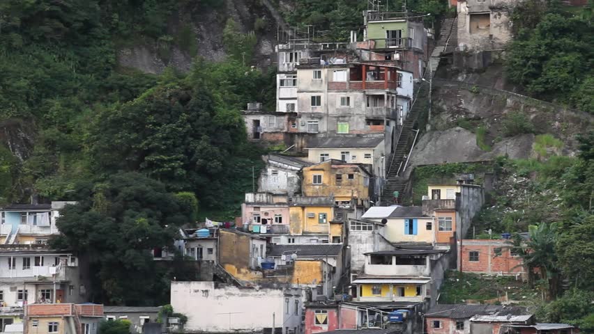
{"label": "weathered ochre-yellow house directly below the cream house with grey roof", "polygon": [[369,205],[370,177],[362,164],[330,159],[303,168],[304,196],[333,197],[337,205]]}

